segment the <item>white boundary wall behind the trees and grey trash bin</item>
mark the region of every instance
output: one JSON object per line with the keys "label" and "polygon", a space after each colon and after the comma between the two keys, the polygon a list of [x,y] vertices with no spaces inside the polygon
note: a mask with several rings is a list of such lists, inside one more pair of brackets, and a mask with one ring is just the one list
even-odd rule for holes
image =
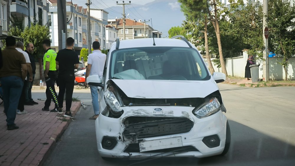
{"label": "white boundary wall behind the trees and grey trash bin", "polygon": [[[248,59],[247,51],[243,51],[243,56],[226,58],[225,65],[227,69],[227,74],[237,77],[245,77],[245,66]],[[211,59],[212,60],[212,59]],[[282,57],[272,57],[269,58],[269,80],[284,80],[285,70],[283,66],[277,62],[282,62]],[[205,59],[207,63],[207,59]],[[263,78],[263,63],[262,61],[255,61],[255,63],[260,64],[259,66],[259,78]],[[217,68],[212,62],[215,72],[222,72],[221,68]],[[295,57],[289,59],[289,65],[287,68],[288,80],[295,80]]]}

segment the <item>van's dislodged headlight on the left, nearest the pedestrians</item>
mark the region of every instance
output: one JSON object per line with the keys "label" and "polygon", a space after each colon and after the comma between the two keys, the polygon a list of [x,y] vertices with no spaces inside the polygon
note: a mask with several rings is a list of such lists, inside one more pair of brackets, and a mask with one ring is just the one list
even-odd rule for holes
{"label": "van's dislodged headlight on the left, nearest the pedestrians", "polygon": [[120,98],[119,94],[117,93],[117,91],[114,90],[113,86],[110,86],[106,93],[106,103],[109,106],[109,108],[111,109],[112,113],[114,115],[120,115],[122,114],[123,109],[121,108],[122,105],[122,99]]}

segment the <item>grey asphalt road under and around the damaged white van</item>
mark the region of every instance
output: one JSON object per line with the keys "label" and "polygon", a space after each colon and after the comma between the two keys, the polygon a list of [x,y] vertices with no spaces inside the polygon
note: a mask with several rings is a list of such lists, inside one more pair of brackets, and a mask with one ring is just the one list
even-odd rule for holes
{"label": "grey asphalt road under and around the damaged white van", "polygon": [[[160,158],[140,166],[172,165],[295,165],[295,87],[246,88],[219,84],[231,128],[227,155],[207,158]],[[86,92],[86,93],[84,93]],[[38,93],[34,93],[34,95]],[[41,94],[41,93],[40,93]],[[135,161],[104,161],[96,147],[89,90],[74,96],[88,107],[81,109],[65,131],[45,166],[117,166]]]}

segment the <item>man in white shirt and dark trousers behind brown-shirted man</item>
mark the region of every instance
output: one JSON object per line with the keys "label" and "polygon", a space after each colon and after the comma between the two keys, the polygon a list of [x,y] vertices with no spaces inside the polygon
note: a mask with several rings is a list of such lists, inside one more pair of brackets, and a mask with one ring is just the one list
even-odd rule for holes
{"label": "man in white shirt and dark trousers behind brown-shirted man", "polygon": [[21,42],[21,41],[18,41],[16,43],[16,48],[15,49],[17,51],[21,52],[24,55],[24,58],[26,59],[26,63],[27,63],[27,70],[28,70],[28,73],[30,75],[29,78],[26,77],[25,80],[24,80],[24,86],[22,88],[22,94],[21,94],[21,96],[19,98],[19,103],[18,103],[18,106],[17,106],[17,114],[27,114],[28,112],[24,111],[24,102],[25,102],[25,99],[26,99],[25,87],[26,87],[26,84],[29,81],[33,81],[33,71],[32,71],[32,66],[31,66],[31,61],[30,61],[29,55],[28,55],[27,52],[24,52],[24,43]]}

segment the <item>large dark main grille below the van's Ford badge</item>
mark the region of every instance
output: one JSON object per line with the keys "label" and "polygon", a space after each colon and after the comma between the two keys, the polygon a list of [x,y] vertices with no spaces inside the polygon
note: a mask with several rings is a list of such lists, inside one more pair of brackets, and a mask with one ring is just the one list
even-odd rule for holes
{"label": "large dark main grille below the van's Ford badge", "polygon": [[124,136],[129,139],[145,139],[191,131],[194,122],[187,118],[161,119],[126,125]]}

